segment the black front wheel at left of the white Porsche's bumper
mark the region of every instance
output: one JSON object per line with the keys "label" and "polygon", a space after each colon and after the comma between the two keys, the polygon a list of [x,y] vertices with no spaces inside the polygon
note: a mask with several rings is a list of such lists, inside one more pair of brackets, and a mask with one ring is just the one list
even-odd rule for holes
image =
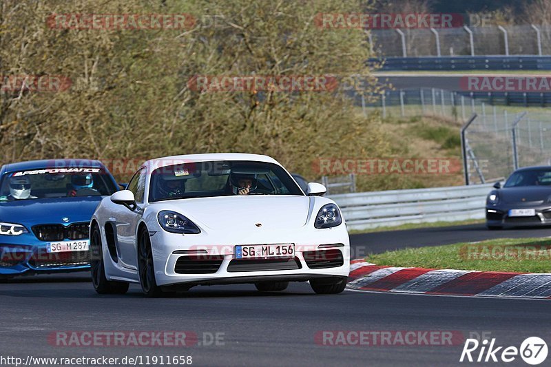
{"label": "black front wheel at left of the white Porsche's bumper", "polygon": [[155,280],[151,240],[149,240],[149,231],[145,227],[142,227],[138,235],[138,275],[143,294],[147,297],[163,295],[163,289]]}

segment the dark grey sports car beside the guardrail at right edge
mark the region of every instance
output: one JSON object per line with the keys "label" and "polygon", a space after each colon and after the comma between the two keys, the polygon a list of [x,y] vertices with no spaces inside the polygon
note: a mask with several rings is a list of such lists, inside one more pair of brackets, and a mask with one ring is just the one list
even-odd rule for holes
{"label": "dark grey sports car beside the guardrail at right edge", "polygon": [[551,167],[517,169],[494,187],[486,199],[488,229],[551,225]]}

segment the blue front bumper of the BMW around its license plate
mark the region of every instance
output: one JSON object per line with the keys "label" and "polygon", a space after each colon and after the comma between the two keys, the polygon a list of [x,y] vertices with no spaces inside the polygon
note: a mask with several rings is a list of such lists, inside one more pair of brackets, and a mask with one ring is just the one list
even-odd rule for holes
{"label": "blue front bumper of the BMW around its license plate", "polygon": [[0,235],[0,275],[64,273],[90,269],[90,251],[48,253],[34,233]]}

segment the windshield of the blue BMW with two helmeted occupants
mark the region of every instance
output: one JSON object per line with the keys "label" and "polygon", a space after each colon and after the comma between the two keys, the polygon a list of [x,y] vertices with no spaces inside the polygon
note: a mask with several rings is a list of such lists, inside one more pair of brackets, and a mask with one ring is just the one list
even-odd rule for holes
{"label": "windshield of the blue BMW with two helmeted occupants", "polygon": [[100,168],[56,167],[14,171],[3,175],[0,202],[63,198],[72,196],[107,196],[117,191],[112,178]]}

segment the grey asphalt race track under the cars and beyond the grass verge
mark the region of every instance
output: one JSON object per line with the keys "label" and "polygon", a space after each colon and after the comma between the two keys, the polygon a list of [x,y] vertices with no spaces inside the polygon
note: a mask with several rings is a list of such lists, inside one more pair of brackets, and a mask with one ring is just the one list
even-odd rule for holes
{"label": "grey asphalt race track under the cars and beyond the grass verge", "polygon": [[[352,236],[352,242],[382,250],[385,243],[395,248],[525,235],[543,237],[551,231],[465,226],[368,233]],[[279,293],[258,293],[252,285],[203,286],[176,297],[147,299],[135,285],[127,295],[96,295],[88,276],[42,275],[0,283],[0,363],[1,357],[29,355],[191,355],[196,366],[457,366],[464,338],[471,334],[517,348],[531,336],[551,342],[551,304],[545,300],[353,291],[315,295],[304,283]],[[198,335],[201,345],[56,346],[48,339],[56,331],[188,331]],[[456,331],[463,337],[453,346],[324,346],[315,339],[321,331]],[[218,345],[205,345],[215,333],[221,333]],[[509,365],[526,365],[519,357],[517,362]]]}

